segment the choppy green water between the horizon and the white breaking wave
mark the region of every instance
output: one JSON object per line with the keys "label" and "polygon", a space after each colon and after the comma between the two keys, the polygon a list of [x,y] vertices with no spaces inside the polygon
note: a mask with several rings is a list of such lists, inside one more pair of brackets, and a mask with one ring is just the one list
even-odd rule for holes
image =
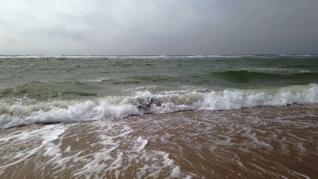
{"label": "choppy green water between the horizon and the white breaking wave", "polygon": [[[2,56],[0,95],[32,97],[125,95],[246,89],[318,82],[318,55]],[[128,91],[128,92],[127,92]]]}

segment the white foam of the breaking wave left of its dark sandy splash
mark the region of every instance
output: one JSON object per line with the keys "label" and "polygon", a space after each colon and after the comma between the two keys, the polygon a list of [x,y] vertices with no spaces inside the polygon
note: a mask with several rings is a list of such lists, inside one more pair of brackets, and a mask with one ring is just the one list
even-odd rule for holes
{"label": "white foam of the breaking wave left of its dark sandy splash", "polygon": [[14,108],[13,114],[16,113],[17,115],[0,115],[0,126],[2,128],[7,128],[33,123],[105,120],[121,118],[128,115],[142,114],[142,112],[132,104],[117,106],[100,103],[96,105],[92,101],[69,105],[67,108],[55,107],[49,111],[44,111],[41,109],[38,111],[32,111],[28,114],[24,113],[24,108],[27,107],[20,105],[18,108]]}

